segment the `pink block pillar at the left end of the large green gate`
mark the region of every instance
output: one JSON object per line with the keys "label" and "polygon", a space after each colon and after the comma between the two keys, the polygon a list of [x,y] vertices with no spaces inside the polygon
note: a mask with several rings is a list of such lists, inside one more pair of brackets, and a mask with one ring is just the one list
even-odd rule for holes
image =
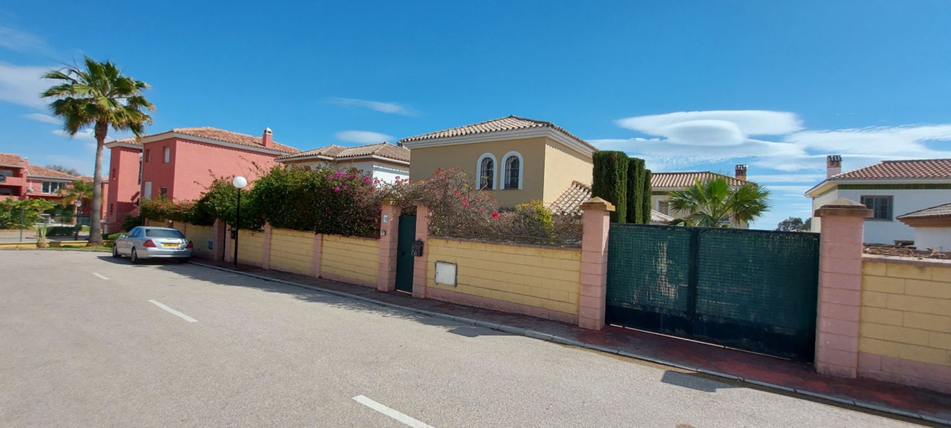
{"label": "pink block pillar at the left end of the large green gate", "polygon": [[578,326],[604,328],[608,290],[608,229],[614,205],[601,198],[581,204],[581,295],[578,297]]}

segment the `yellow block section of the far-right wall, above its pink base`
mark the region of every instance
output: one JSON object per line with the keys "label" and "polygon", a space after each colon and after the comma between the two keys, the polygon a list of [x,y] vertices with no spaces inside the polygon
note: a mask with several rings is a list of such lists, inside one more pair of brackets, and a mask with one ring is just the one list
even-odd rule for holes
{"label": "yellow block section of the far-right wall, above its pink base", "polygon": [[951,366],[951,263],[862,268],[859,351]]}

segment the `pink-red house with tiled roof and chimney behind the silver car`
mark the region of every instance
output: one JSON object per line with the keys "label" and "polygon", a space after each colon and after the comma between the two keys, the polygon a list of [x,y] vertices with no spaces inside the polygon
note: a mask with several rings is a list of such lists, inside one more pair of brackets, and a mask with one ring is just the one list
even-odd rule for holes
{"label": "pink-red house with tiled roof and chimney behind the silver car", "polygon": [[255,137],[208,126],[174,128],[106,146],[111,151],[109,232],[121,228],[140,198],[198,199],[215,177],[243,175],[251,181],[278,165],[274,158],[301,151],[275,142],[270,128]]}

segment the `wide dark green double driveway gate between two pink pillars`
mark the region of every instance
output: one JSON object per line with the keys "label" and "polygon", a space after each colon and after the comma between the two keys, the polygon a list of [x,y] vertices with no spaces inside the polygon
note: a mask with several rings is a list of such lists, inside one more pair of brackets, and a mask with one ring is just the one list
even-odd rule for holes
{"label": "wide dark green double driveway gate between two pink pillars", "polygon": [[819,234],[611,224],[607,321],[812,361]]}

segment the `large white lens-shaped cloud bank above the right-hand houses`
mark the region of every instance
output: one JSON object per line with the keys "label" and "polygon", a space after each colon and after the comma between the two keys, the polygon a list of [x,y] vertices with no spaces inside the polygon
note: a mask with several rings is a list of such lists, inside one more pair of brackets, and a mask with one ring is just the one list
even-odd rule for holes
{"label": "large white lens-shaped cloud bank above the right-hand houses", "polygon": [[[617,124],[649,138],[592,144],[643,157],[657,170],[752,158],[748,162],[755,166],[816,171],[825,168],[827,154],[844,155],[846,170],[885,159],[951,157],[951,124],[804,129],[796,114],[766,110],[679,111],[625,118]],[[767,141],[752,135],[779,138]],[[785,181],[806,182],[792,175],[786,174]],[[825,175],[808,177],[819,181]]]}

